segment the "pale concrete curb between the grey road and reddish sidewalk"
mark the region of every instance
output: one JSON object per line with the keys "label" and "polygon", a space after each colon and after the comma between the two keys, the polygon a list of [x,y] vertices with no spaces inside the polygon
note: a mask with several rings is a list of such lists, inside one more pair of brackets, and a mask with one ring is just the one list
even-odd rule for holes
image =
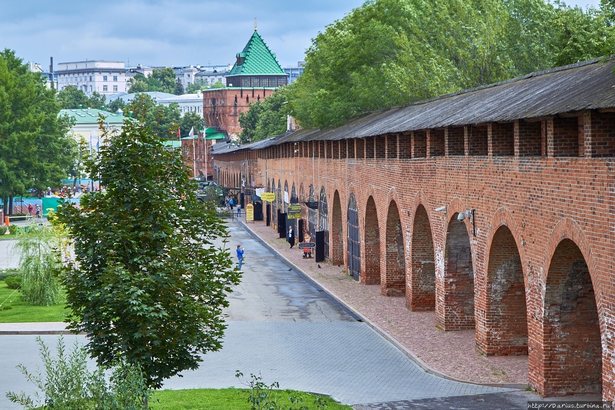
{"label": "pale concrete curb between the grey road and reddish sidewalk", "polygon": [[398,342],[393,336],[391,336],[389,333],[387,333],[384,329],[380,328],[380,326],[376,325],[376,323],[371,321],[369,318],[365,317],[365,315],[363,315],[361,312],[359,312],[359,310],[354,309],[354,307],[352,307],[349,304],[347,304],[346,301],[344,301],[344,299],[339,298],[339,296],[337,296],[335,293],[330,291],[326,286],[323,286],[322,283],[318,282],[314,278],[309,277],[309,275],[305,274],[303,272],[303,270],[301,270],[301,268],[299,266],[297,266],[294,262],[288,260],[287,258],[282,256],[282,254],[278,253],[274,248],[272,248],[271,245],[269,245],[269,243],[264,242],[264,240],[261,237],[259,237],[258,235],[256,235],[252,231],[252,229],[250,229],[250,227],[248,227],[247,224],[245,224],[243,221],[237,221],[237,222],[240,225],[242,225],[248,232],[250,232],[250,235],[252,235],[256,240],[258,240],[258,242],[260,242],[266,248],[268,248],[270,251],[272,251],[274,254],[276,254],[278,256],[278,258],[284,259],[284,261],[288,265],[292,266],[297,272],[299,272],[302,277],[306,278],[306,280],[308,280],[309,282],[314,283],[317,286],[317,288],[322,289],[325,293],[328,294],[328,296],[330,296],[331,298],[335,299],[335,301],[338,302],[341,306],[343,306],[346,310],[349,310],[349,312],[352,312],[353,316],[359,317],[361,321],[364,321],[368,326],[370,326],[370,328],[374,329],[376,331],[376,333],[378,333],[380,336],[384,337],[384,339],[386,339],[387,341],[391,342],[391,344],[393,344],[395,347],[397,347],[397,349],[401,350],[403,354],[405,354],[408,358],[410,358],[410,360],[414,361],[421,369],[426,371],[426,373],[433,374],[434,376],[442,377],[443,379],[446,379],[446,380],[453,380],[454,382],[461,382],[461,383],[467,383],[467,384],[475,384],[475,385],[479,385],[479,386],[514,388],[514,389],[518,389],[518,390],[523,390],[523,389],[529,387],[529,385],[525,384],[525,383],[480,383],[480,382],[473,382],[472,380],[458,379],[457,377],[450,376],[450,375],[448,375],[446,373],[442,373],[441,371],[438,371],[438,370],[432,368],[431,366],[427,365],[427,363],[425,363],[423,360],[421,360],[421,358],[416,356],[414,352],[412,352],[411,350],[407,349],[407,347],[405,347],[400,342]]}

